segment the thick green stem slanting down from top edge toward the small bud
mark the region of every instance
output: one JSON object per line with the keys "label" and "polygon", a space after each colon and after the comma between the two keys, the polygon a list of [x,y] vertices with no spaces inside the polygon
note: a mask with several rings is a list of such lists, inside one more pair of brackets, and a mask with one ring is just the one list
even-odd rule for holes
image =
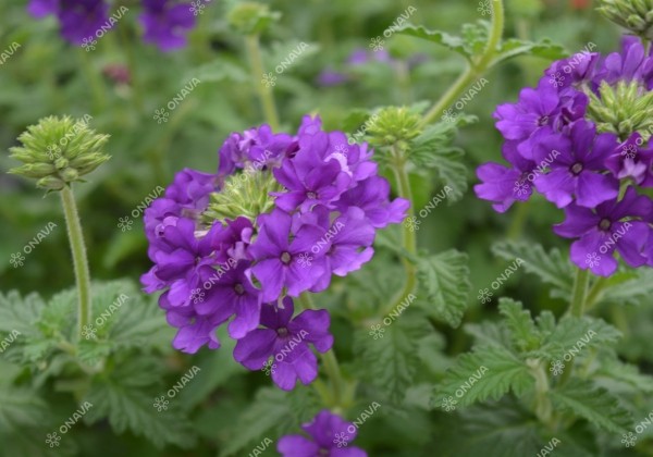
{"label": "thick green stem slanting down from top edge toward the small bud", "polygon": [[438,102],[424,114],[423,120],[420,123],[421,127],[424,127],[429,123],[433,122],[435,118],[442,115],[444,110],[452,106],[460,94],[465,90],[472,81],[483,74],[491,65],[492,59],[496,53],[496,47],[501,41],[504,29],[504,5],[503,0],[493,0],[493,14],[492,14],[492,29],[490,30],[490,38],[488,46],[480,57],[478,62],[471,62],[463,72],[463,74],[456,79],[454,85],[438,100]]}

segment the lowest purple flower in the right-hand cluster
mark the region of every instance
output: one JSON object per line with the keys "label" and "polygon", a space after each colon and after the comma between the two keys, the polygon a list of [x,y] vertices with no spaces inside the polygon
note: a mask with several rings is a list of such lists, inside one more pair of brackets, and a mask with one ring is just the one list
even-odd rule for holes
{"label": "lowest purple flower in the right-hand cluster", "polygon": [[554,226],[554,232],[566,238],[580,238],[571,244],[571,260],[581,269],[609,276],[617,269],[615,249],[630,267],[646,263],[644,245],[651,228],[653,201],[638,196],[629,187],[620,201],[601,203],[595,210],[570,205],[565,208],[566,219]]}

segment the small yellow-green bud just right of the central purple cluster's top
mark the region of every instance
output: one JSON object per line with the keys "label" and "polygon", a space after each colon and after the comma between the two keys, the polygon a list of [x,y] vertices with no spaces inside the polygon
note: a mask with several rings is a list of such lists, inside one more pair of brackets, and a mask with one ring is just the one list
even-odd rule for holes
{"label": "small yellow-green bud just right of the central purple cluster's top", "polygon": [[421,133],[420,121],[421,116],[408,108],[384,108],[368,127],[369,141],[373,146],[407,144]]}

